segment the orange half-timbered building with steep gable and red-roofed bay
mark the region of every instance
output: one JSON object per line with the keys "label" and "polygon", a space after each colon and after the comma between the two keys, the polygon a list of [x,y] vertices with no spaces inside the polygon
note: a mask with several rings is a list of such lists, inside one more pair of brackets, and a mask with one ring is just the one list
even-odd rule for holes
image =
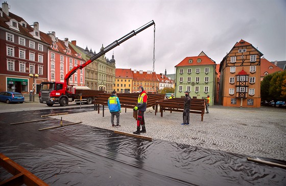
{"label": "orange half-timbered building with steep gable and red-roofed bay", "polygon": [[260,107],[261,56],[263,54],[249,42],[236,42],[220,64],[219,103]]}

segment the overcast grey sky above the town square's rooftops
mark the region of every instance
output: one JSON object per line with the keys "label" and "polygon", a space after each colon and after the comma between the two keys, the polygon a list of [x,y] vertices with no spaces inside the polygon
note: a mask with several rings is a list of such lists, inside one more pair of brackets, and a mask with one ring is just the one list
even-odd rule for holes
{"label": "overcast grey sky above the town square's rooftops", "polygon": [[[286,60],[286,1],[96,1],[6,0],[10,12],[42,32],[76,40],[97,53],[127,33],[154,20],[155,72],[175,73],[174,66],[201,51],[220,63],[236,42],[251,43],[269,61]],[[4,1],[1,0],[1,3]],[[114,52],[116,68],[153,70],[154,27]]]}

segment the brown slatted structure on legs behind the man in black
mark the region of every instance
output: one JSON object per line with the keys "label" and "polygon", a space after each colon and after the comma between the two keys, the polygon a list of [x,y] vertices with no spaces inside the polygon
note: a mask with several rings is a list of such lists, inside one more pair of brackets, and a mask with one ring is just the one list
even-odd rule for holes
{"label": "brown slatted structure on legs behind the man in black", "polygon": [[[171,113],[172,111],[176,112],[183,112],[184,111],[184,98],[175,98],[175,99],[168,99],[163,101],[157,101],[155,106],[155,115],[158,111],[158,105],[160,105],[160,112],[161,117],[163,117],[163,111],[169,110]],[[201,121],[204,119],[205,113],[205,99],[191,99],[190,100],[190,113],[198,113],[201,114]]]}

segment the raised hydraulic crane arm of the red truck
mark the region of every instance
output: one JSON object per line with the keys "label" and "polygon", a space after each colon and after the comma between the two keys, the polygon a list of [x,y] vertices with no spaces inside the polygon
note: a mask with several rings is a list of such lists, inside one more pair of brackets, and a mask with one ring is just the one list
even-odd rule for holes
{"label": "raised hydraulic crane arm of the red truck", "polygon": [[135,36],[136,34],[140,33],[141,31],[144,31],[145,29],[151,27],[152,25],[154,25],[155,27],[155,22],[154,20],[148,22],[146,25],[138,28],[137,30],[133,30],[130,33],[126,34],[125,36],[123,36],[122,38],[115,40],[114,42],[112,42],[111,44],[109,44],[107,47],[105,47],[104,49],[102,49],[98,54],[92,56],[88,61],[86,61],[84,64],[78,64],[77,66],[75,66],[73,69],[71,69],[66,75],[65,75],[65,82],[66,85],[68,85],[68,80],[69,78],[75,74],[77,72],[78,69],[82,69],[85,66],[87,66],[88,64],[90,64],[92,61],[98,59],[100,56],[104,55],[105,53],[107,53],[108,51],[114,49],[115,47],[117,47],[118,45],[120,45],[121,43],[123,43],[124,41],[130,39],[131,37]]}

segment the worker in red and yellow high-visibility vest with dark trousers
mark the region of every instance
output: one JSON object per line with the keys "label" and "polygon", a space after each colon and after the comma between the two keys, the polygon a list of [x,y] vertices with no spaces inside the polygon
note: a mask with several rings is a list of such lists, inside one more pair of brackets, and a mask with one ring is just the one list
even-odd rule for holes
{"label": "worker in red and yellow high-visibility vest with dark trousers", "polygon": [[[139,86],[139,96],[138,96],[138,104],[134,107],[134,110],[138,110],[137,116],[137,130],[133,132],[133,134],[146,133],[145,121],[144,121],[144,112],[147,108],[147,94],[144,90],[143,86]],[[140,130],[140,126],[142,126],[142,130]]]}

